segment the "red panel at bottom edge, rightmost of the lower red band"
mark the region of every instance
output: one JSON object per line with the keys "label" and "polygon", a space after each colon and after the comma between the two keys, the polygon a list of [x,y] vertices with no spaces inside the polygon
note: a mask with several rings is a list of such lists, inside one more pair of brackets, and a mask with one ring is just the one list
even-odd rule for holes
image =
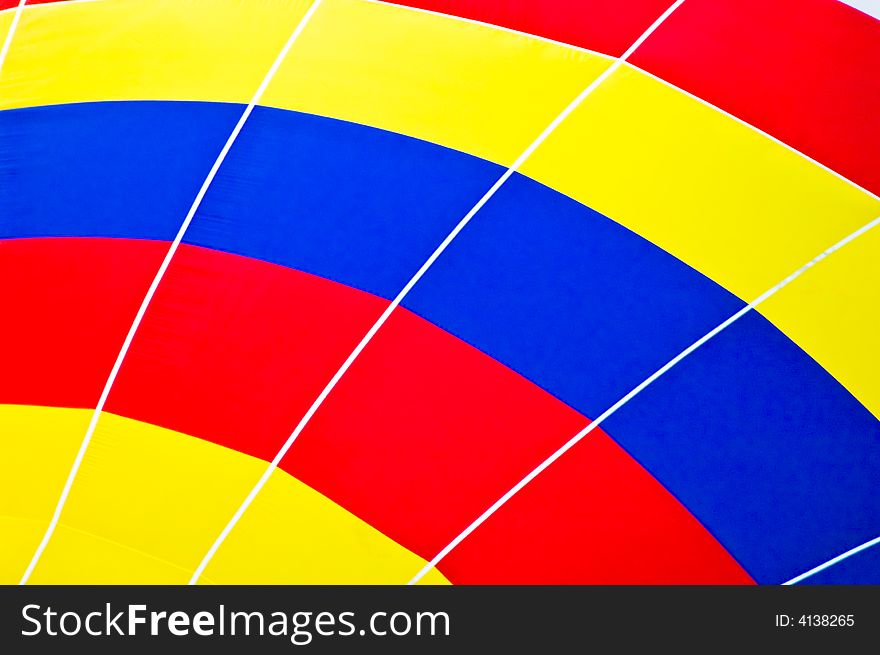
{"label": "red panel at bottom edge, rightmost of the lower red band", "polygon": [[439,568],[458,584],[754,582],[659,482],[598,431],[511,498]]}

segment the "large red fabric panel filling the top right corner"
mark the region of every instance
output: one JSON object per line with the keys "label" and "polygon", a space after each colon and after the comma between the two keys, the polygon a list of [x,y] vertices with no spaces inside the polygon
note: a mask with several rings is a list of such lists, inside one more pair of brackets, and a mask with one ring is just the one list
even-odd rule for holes
{"label": "large red fabric panel filling the top right corner", "polygon": [[880,21],[836,0],[688,0],[631,60],[880,192]]}

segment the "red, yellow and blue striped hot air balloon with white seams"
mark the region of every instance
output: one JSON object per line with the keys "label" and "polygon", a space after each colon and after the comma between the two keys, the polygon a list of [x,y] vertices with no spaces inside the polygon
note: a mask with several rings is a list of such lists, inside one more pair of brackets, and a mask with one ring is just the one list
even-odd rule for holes
{"label": "red, yellow and blue striped hot air balloon with white seams", "polygon": [[0,581],[880,583],[850,4],[0,0]]}

